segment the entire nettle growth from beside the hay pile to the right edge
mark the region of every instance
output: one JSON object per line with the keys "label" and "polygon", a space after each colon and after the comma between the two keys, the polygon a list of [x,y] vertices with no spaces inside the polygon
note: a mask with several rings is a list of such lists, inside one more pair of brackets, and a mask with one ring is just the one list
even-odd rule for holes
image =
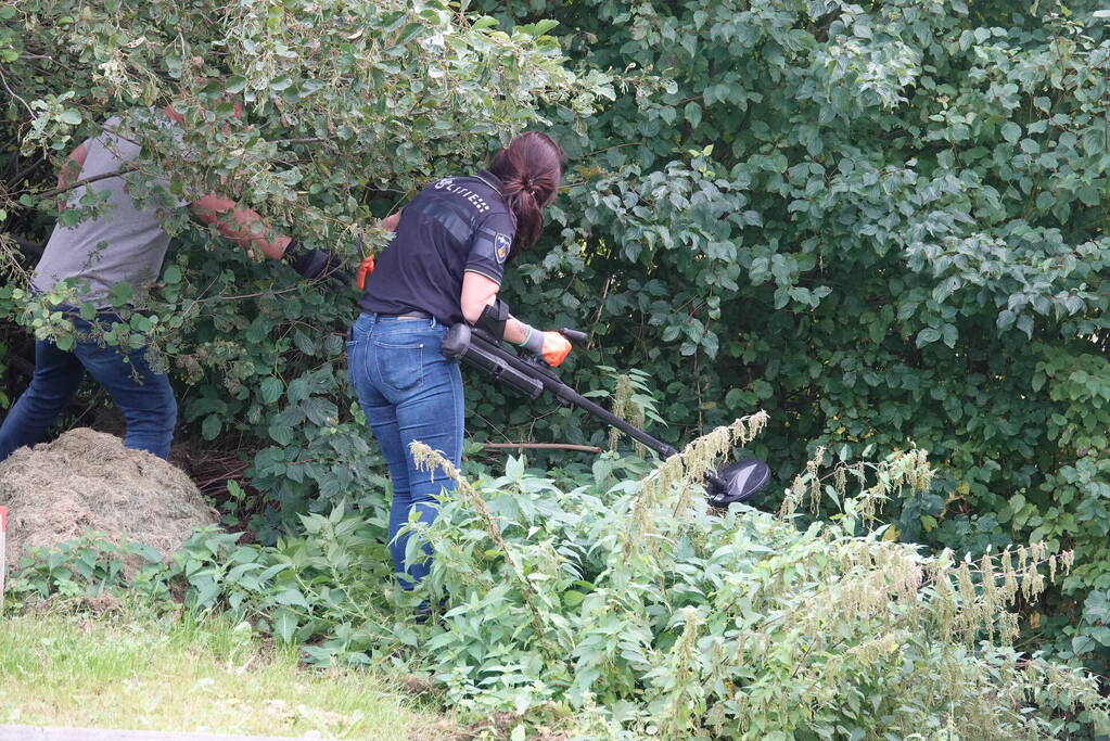
{"label": "entire nettle growth from beside the hay pile to the right edge", "polygon": [[[720,427],[646,471],[606,453],[615,484],[566,471],[556,484],[517,458],[502,475],[464,475],[416,444],[425,466],[458,485],[432,526],[410,525],[411,557],[423,544],[434,554],[416,592],[387,586],[384,521],[345,507],[302,516],[302,532],[274,546],[198,532],[134,587],[250,620],[313,664],[427,674],[466,715],[509,713],[513,738],[539,728],[628,740],[1110,730],[1094,677],[1013,644],[1015,606],[1064,575],[1070,552],[1033,544],[971,559],[890,540],[875,510],[928,485],[918,449],[833,467],[815,458],[779,515],[708,511],[705,473],[766,422]],[[798,512],[829,490],[838,514],[799,528]],[[28,598],[80,593],[84,573],[59,558],[17,583]],[[417,623],[425,598],[434,619]]]}

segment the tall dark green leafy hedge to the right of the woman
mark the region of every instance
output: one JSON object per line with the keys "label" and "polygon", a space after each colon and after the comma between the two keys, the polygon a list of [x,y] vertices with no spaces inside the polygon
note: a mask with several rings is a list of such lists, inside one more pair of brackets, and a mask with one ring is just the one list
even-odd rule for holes
{"label": "tall dark green leafy hedge to the right of the woman", "polygon": [[[779,480],[818,445],[914,440],[906,541],[1073,548],[1030,640],[1106,670],[1110,35],[1103,3],[485,2],[634,69],[584,136],[564,232],[512,278],[650,374],[662,435],[771,410]],[[579,380],[597,383],[589,372]],[[476,407],[504,427],[529,409]],[[549,434],[601,440],[547,418]]]}

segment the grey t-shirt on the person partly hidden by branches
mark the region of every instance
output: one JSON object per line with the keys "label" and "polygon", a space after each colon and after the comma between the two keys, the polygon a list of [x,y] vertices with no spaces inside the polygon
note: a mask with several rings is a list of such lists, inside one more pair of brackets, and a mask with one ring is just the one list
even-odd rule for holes
{"label": "grey t-shirt on the person partly hidden by branches", "polygon": [[[145,111],[139,118],[141,122],[131,120],[133,125],[168,125],[164,119]],[[140,145],[128,139],[119,116],[105,121],[101,129],[99,135],[84,143],[88,155],[81,180],[120,170],[139,156]],[[31,283],[37,291],[47,292],[61,281],[72,280],[79,302],[102,307],[110,304],[109,292],[117,283],[130,283],[140,296],[158,280],[170,244],[162,220],[170,209],[188,201],[172,199],[163,190],[169,183],[155,180],[152,190],[160,191],[161,197],[155,194],[145,199],[140,207],[128,192],[128,177],[135,176],[117,175],[73,189],[70,203],[79,203],[88,189],[100,197],[108,194],[107,209],[102,215],[74,226],[54,226]]]}

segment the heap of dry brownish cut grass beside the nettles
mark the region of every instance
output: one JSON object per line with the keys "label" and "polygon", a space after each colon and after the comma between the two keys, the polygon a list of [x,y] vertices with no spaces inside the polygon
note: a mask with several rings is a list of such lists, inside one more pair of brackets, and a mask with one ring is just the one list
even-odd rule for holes
{"label": "heap of dry brownish cut grass beside the nettles", "polygon": [[193,483],[158,456],[111,435],[73,429],[0,463],[8,507],[8,564],[27,547],[53,546],[87,529],[127,536],[171,555],[193,527],[215,521]]}

